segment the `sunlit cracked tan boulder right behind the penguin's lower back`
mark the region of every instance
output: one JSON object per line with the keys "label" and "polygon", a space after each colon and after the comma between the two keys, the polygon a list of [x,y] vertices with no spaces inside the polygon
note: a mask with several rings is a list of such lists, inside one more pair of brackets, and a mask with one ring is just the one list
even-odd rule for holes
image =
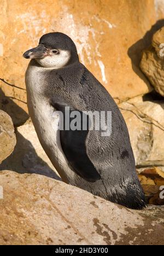
{"label": "sunlit cracked tan boulder right behind the penguin's lower back", "polygon": [[119,107],[130,132],[136,164],[164,166],[164,102],[138,96]]}

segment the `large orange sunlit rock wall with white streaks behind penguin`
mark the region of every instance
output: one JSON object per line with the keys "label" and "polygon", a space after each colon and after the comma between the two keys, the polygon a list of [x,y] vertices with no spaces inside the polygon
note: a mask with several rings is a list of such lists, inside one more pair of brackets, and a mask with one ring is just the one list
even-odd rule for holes
{"label": "large orange sunlit rock wall with white streaks behind penguin", "polygon": [[[81,62],[113,97],[131,98],[150,90],[139,71],[140,51],[149,44],[145,33],[160,19],[160,1],[20,1],[0,3],[0,78],[25,88],[28,60],[22,53],[38,44],[42,34],[68,34]],[[26,91],[3,81],[5,95],[26,110]]]}

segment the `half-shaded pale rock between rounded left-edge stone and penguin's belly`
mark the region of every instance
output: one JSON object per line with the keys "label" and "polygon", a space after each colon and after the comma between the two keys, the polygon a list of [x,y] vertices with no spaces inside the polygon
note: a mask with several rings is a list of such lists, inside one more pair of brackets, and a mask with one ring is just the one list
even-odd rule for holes
{"label": "half-shaded pale rock between rounded left-edge stone and penguin's belly", "polygon": [[40,145],[37,133],[30,119],[24,125],[17,127],[14,152],[3,161],[0,165],[0,170],[39,173],[51,178],[60,179]]}

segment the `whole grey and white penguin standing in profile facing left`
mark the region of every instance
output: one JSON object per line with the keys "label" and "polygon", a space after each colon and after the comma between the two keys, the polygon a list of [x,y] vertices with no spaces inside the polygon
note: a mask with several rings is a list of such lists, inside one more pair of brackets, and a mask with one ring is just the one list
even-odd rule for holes
{"label": "whole grey and white penguin standing in profile facing left", "polygon": [[[28,112],[62,181],[128,208],[145,207],[125,120],[112,96],[79,61],[73,40],[60,32],[44,34],[23,57],[31,59],[25,75]],[[66,121],[66,109],[69,124],[74,113],[86,116],[85,129],[58,128],[61,113]],[[89,112],[111,113],[108,136],[102,135],[106,129],[91,129]]]}

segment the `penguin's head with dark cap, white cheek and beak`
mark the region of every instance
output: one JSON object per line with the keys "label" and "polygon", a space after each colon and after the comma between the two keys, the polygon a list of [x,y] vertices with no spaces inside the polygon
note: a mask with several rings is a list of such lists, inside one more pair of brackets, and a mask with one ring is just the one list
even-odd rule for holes
{"label": "penguin's head with dark cap, white cheek and beak", "polygon": [[44,34],[39,40],[39,45],[27,50],[23,57],[36,59],[40,66],[53,69],[79,61],[73,40],[60,32]]}

